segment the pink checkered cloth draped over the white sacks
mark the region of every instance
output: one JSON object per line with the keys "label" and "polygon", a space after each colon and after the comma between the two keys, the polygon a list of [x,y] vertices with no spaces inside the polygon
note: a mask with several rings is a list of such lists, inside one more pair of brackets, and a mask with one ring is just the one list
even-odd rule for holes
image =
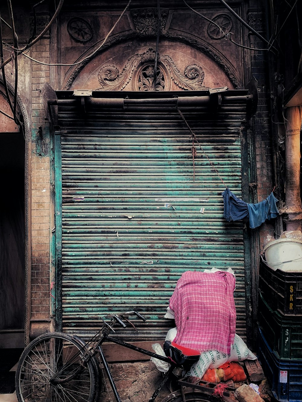
{"label": "pink checkered cloth draped over the white sacks", "polygon": [[184,272],[170,298],[177,326],[174,342],[199,351],[230,353],[236,328],[234,289],[231,273]]}

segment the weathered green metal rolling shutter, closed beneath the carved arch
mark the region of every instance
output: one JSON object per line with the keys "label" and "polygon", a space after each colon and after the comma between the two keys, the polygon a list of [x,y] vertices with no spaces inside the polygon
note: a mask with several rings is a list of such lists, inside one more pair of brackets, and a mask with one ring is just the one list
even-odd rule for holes
{"label": "weathered green metal rolling shutter, closed beneath the carved arch", "polygon": [[[235,97],[225,98],[214,114],[206,107],[182,108],[239,197],[245,109]],[[120,336],[163,338],[171,325],[163,316],[180,275],[231,267],[237,333],[245,338],[242,222],[223,219],[224,186],[197,144],[193,182],[192,141],[176,108],[151,103],[81,114],[60,106],[59,123],[64,332],[85,336],[107,312],[137,309],[148,320],[137,322],[139,334],[128,328]]]}

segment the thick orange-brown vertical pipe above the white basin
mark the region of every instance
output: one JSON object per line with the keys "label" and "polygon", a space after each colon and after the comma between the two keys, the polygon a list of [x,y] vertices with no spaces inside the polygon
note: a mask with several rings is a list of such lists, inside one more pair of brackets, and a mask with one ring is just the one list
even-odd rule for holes
{"label": "thick orange-brown vertical pipe above the white basin", "polygon": [[286,230],[301,230],[300,198],[300,130],[302,107],[293,106],[286,109],[285,136],[285,212]]}

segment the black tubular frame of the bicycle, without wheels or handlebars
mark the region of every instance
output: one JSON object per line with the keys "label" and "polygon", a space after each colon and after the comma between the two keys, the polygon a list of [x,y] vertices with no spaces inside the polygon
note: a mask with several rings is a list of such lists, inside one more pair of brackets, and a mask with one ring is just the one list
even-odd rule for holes
{"label": "black tubular frame of the bicycle, without wheels or handlebars", "polygon": [[177,367],[176,364],[173,364],[172,361],[170,359],[168,359],[168,357],[164,357],[161,355],[157,355],[156,353],[150,352],[147,349],[142,349],[140,347],[137,347],[135,345],[131,345],[130,343],[124,342],[122,340],[116,339],[116,338],[112,338],[111,336],[107,336],[106,334],[103,334],[103,336],[101,337],[101,339],[98,341],[97,343],[97,350],[99,352],[99,356],[101,358],[101,361],[103,363],[104,369],[106,371],[106,374],[108,376],[108,380],[110,382],[110,386],[112,388],[112,392],[114,393],[114,397],[116,398],[116,402],[122,402],[122,400],[120,399],[120,396],[118,394],[118,390],[116,388],[116,384],[114,382],[114,379],[112,377],[108,362],[106,360],[106,357],[103,353],[103,349],[101,347],[102,343],[104,343],[105,341],[109,341],[109,342],[113,342],[117,345],[121,345],[125,348],[131,349],[133,351],[136,352],[140,352],[143,353],[144,355],[150,356],[150,357],[155,357],[156,359],[159,359],[161,361],[165,361],[167,363],[169,363],[171,365],[170,369],[167,371],[167,373],[165,373],[165,375],[163,376],[163,379],[161,380],[161,382],[159,383],[158,387],[156,388],[156,390],[153,392],[151,398],[149,399],[148,402],[153,402],[155,401],[155,398],[157,397],[157,395],[159,394],[161,388],[163,388],[165,382],[167,381],[167,379],[170,377],[170,375],[172,375],[172,371]]}

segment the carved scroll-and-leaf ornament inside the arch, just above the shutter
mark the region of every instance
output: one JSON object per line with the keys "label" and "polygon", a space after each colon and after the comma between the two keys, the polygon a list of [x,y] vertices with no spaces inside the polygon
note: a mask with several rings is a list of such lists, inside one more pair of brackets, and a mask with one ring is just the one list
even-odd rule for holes
{"label": "carved scroll-and-leaf ornament inside the arch, just above the shutter", "polygon": [[155,79],[154,64],[155,51],[150,48],[144,53],[130,57],[121,73],[116,66],[103,66],[97,75],[101,85],[97,90],[123,90],[130,81],[133,91],[142,92],[169,91],[172,82],[183,90],[208,89],[203,86],[205,73],[197,64],[187,66],[182,74],[169,55],[161,55],[157,59]]}

